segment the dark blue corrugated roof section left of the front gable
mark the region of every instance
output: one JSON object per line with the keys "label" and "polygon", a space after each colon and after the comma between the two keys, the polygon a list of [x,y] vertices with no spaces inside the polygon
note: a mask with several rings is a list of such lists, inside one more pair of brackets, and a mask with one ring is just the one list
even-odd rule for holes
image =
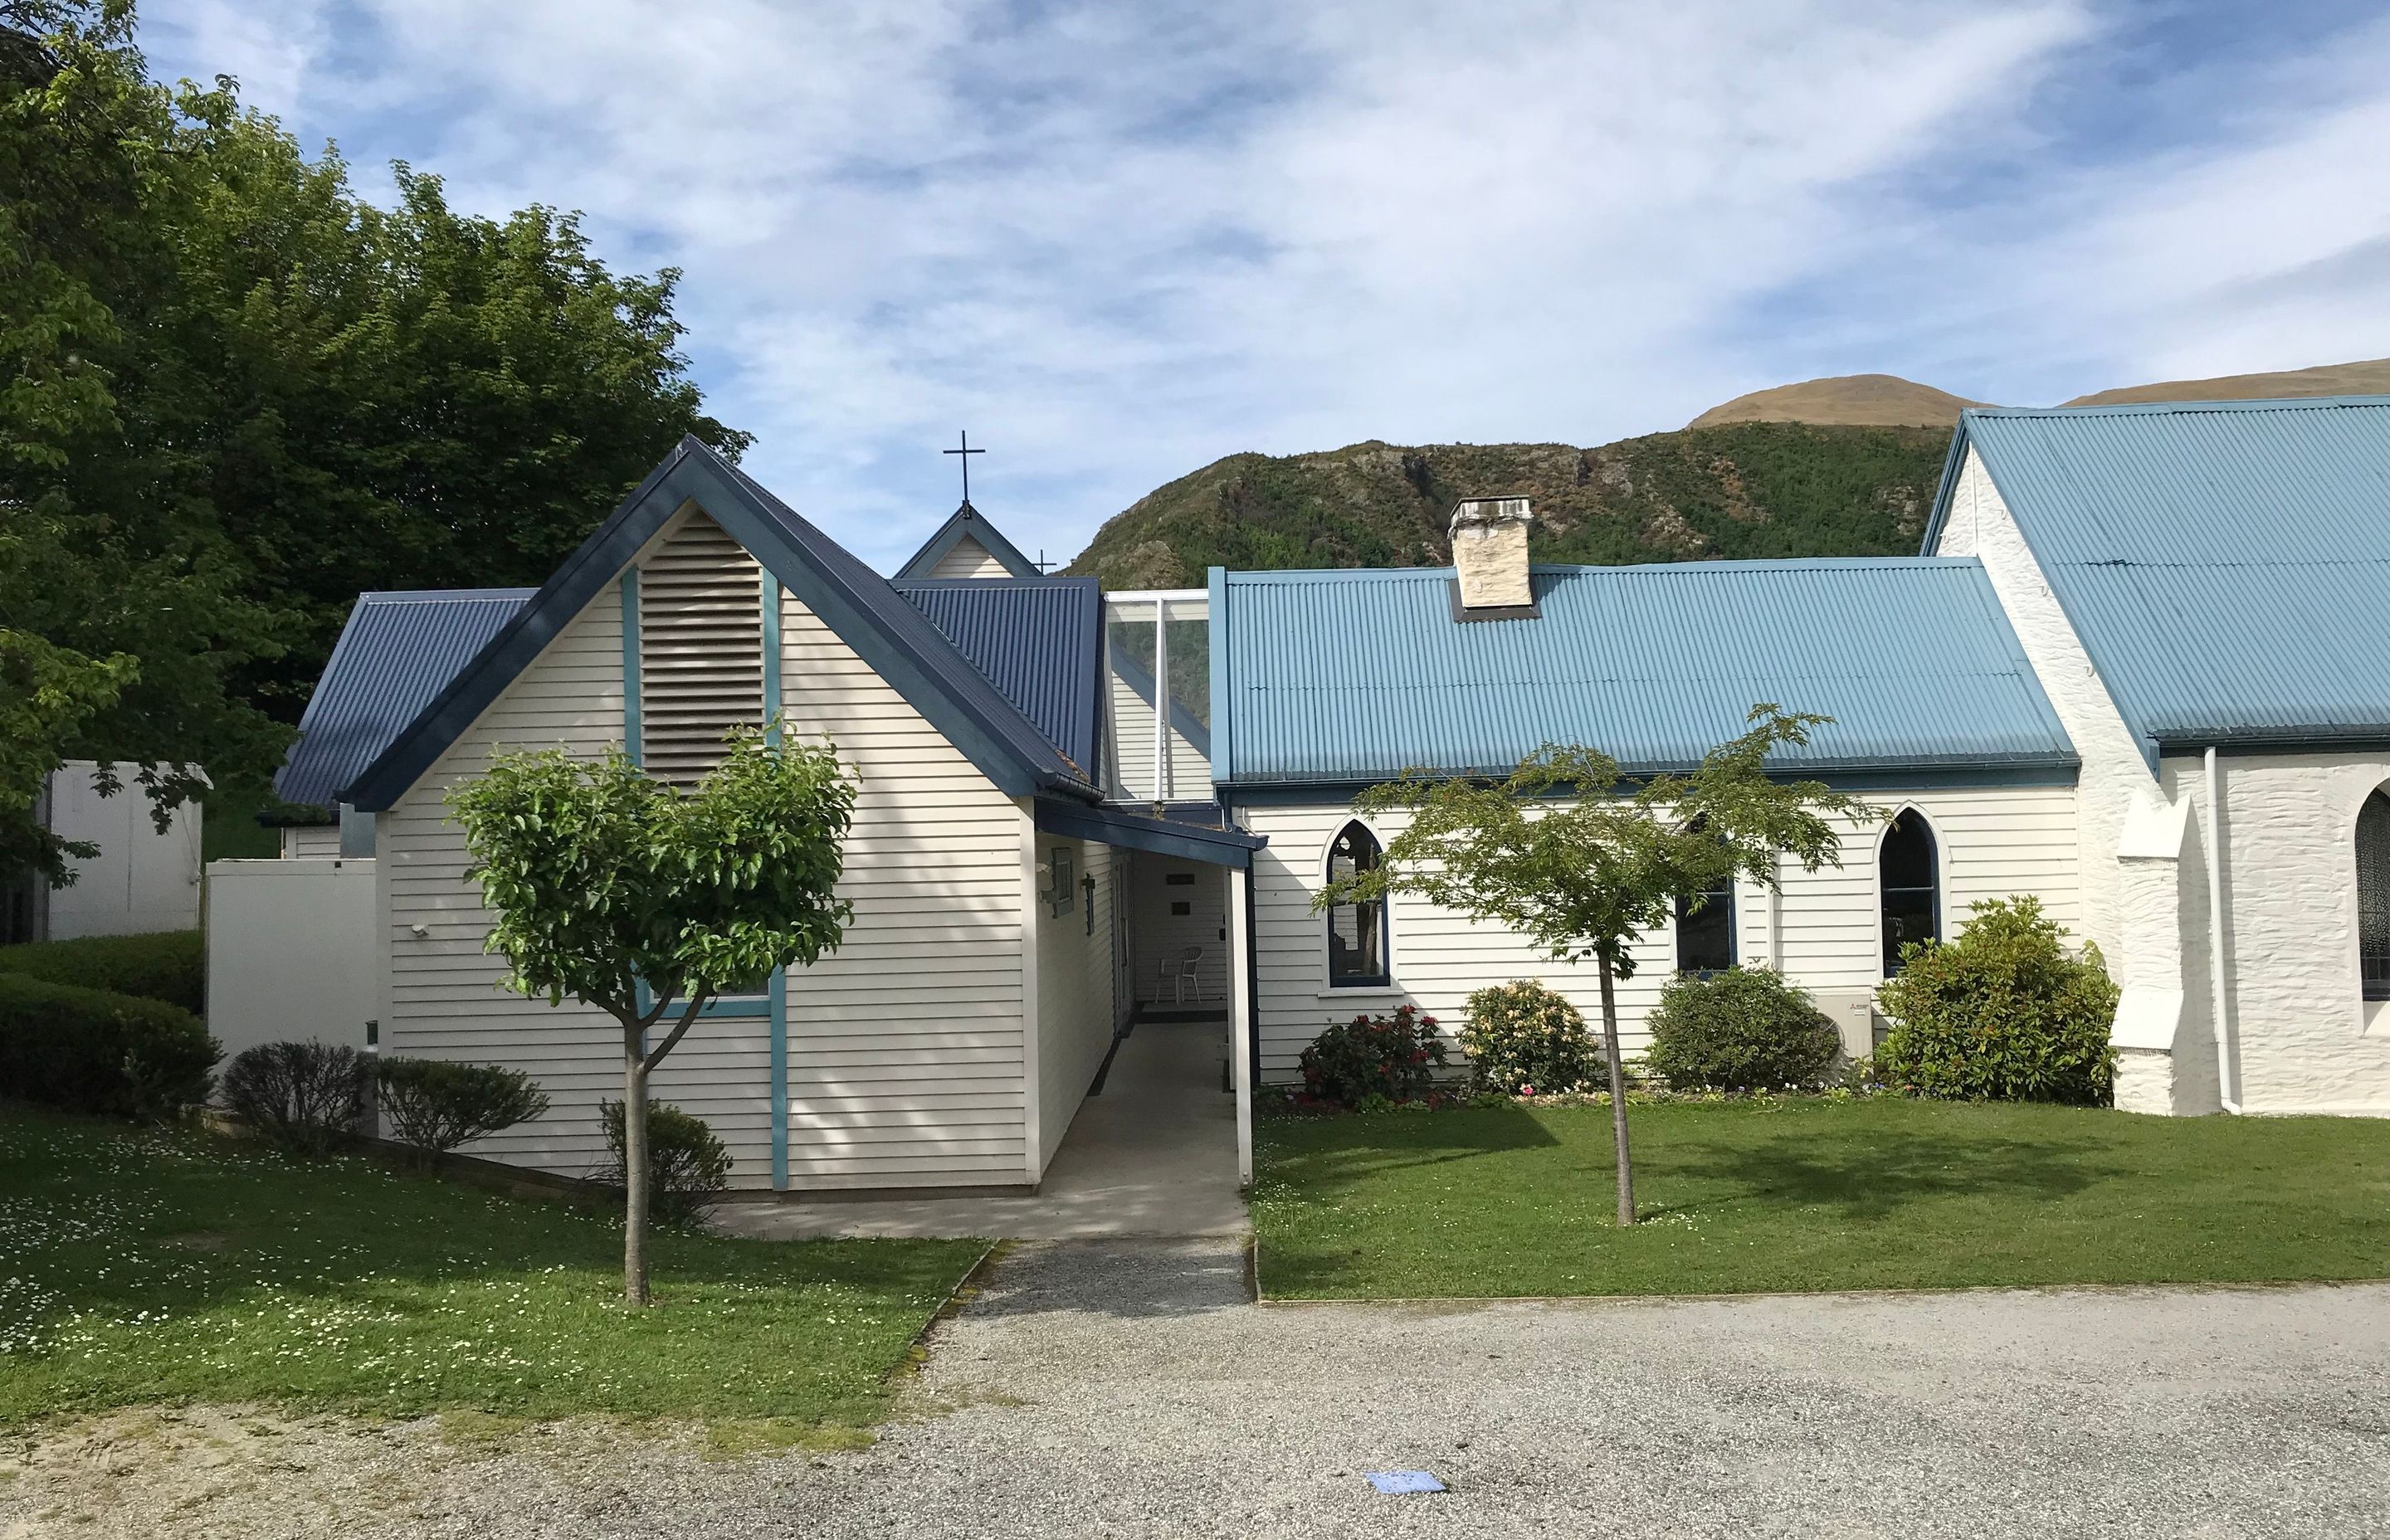
{"label": "dark blue corrugated roof section left of the front gable", "polygon": [[342,787],[390,748],[533,593],[428,588],[356,595],[299,717],[299,741],[275,772],[275,794],[330,811]]}

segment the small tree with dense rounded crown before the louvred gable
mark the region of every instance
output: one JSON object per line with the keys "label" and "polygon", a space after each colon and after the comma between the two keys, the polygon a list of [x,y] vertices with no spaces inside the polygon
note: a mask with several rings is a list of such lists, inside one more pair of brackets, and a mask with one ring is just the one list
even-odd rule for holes
{"label": "small tree with dense rounded crown before the louvred gable", "polygon": [[[648,1303],[648,1076],[727,988],[834,952],[856,787],[832,744],[743,729],[693,792],[619,748],[500,756],[449,792],[507,988],[621,1023],[621,1291]],[[657,1038],[655,1033],[662,1031]]]}

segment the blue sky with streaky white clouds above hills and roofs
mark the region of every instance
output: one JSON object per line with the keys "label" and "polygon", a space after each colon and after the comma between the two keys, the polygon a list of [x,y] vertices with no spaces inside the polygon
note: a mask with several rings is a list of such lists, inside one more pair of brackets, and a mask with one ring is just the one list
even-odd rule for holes
{"label": "blue sky with streaky white clouds above hills and roofs", "polygon": [[2390,12],[2321,0],[148,0],[385,196],[586,213],[748,469],[894,567],[1238,450],[1594,445],[1886,371],[2390,354]]}

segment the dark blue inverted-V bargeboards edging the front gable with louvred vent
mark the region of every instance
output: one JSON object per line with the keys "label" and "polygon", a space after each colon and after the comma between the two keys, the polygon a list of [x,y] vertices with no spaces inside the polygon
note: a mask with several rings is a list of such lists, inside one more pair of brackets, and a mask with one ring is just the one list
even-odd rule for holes
{"label": "dark blue inverted-V bargeboards edging the front gable with louvred vent", "polygon": [[[650,471],[631,497],[614,509],[598,533],[564,560],[564,567],[547,579],[538,598],[523,605],[521,615],[492,636],[423,715],[382,751],[366,775],[349,787],[344,801],[366,811],[390,808],[497,701],[500,691],[531,667],[557,631],[588,607],[614,574],[631,564],[631,557],[638,555],[684,502],[703,507],[734,540],[746,545],[798,603],[813,610],[846,646],[856,648],[997,789],[1009,796],[1030,796],[1035,792],[1064,792],[1090,801],[1099,796],[1095,787],[1061,768],[1059,751],[1054,751],[1056,765],[1040,765],[1032,756],[1023,753],[1021,744],[1009,741],[1009,734],[994,722],[987,705],[968,701],[939,679],[911,638],[889,629],[851,583],[801,550],[791,538],[793,531],[765,507],[767,497],[762,488],[741,476],[700,440],[684,438],[664,464]],[[793,519],[796,514],[789,517]],[[872,581],[880,579],[875,576]],[[894,588],[889,588],[889,603],[906,605],[937,646],[951,653],[954,667],[985,686],[985,677],[970,660],[956,653],[937,627]],[[997,696],[994,686],[985,689],[994,698],[994,705],[1018,717],[1011,703]],[[1044,739],[1025,717],[1018,727],[1025,739],[1044,746]]]}

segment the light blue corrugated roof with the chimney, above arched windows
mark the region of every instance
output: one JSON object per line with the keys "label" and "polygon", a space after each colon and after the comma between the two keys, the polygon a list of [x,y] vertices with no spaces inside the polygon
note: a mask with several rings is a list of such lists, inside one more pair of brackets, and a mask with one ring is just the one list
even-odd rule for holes
{"label": "light blue corrugated roof with the chimney, above arched windows", "polygon": [[1506,772],[1546,741],[1683,768],[1759,701],[1836,717],[1783,756],[1804,770],[2075,765],[1972,560],[1537,567],[1542,619],[1510,622],[1456,622],[1451,581],[1224,574],[1214,777]]}

